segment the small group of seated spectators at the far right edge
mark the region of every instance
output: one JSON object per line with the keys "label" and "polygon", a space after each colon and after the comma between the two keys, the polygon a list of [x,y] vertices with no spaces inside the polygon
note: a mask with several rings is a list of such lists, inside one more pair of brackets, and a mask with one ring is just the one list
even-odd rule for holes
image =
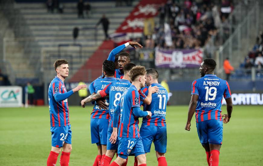
{"label": "small group of seated spectators at the far right edge", "polygon": [[260,32],[256,38],[256,44],[253,46],[253,49],[248,53],[248,56],[245,58],[245,62],[241,64],[241,67],[245,69],[251,69],[256,67],[261,69],[263,67],[263,32]]}

